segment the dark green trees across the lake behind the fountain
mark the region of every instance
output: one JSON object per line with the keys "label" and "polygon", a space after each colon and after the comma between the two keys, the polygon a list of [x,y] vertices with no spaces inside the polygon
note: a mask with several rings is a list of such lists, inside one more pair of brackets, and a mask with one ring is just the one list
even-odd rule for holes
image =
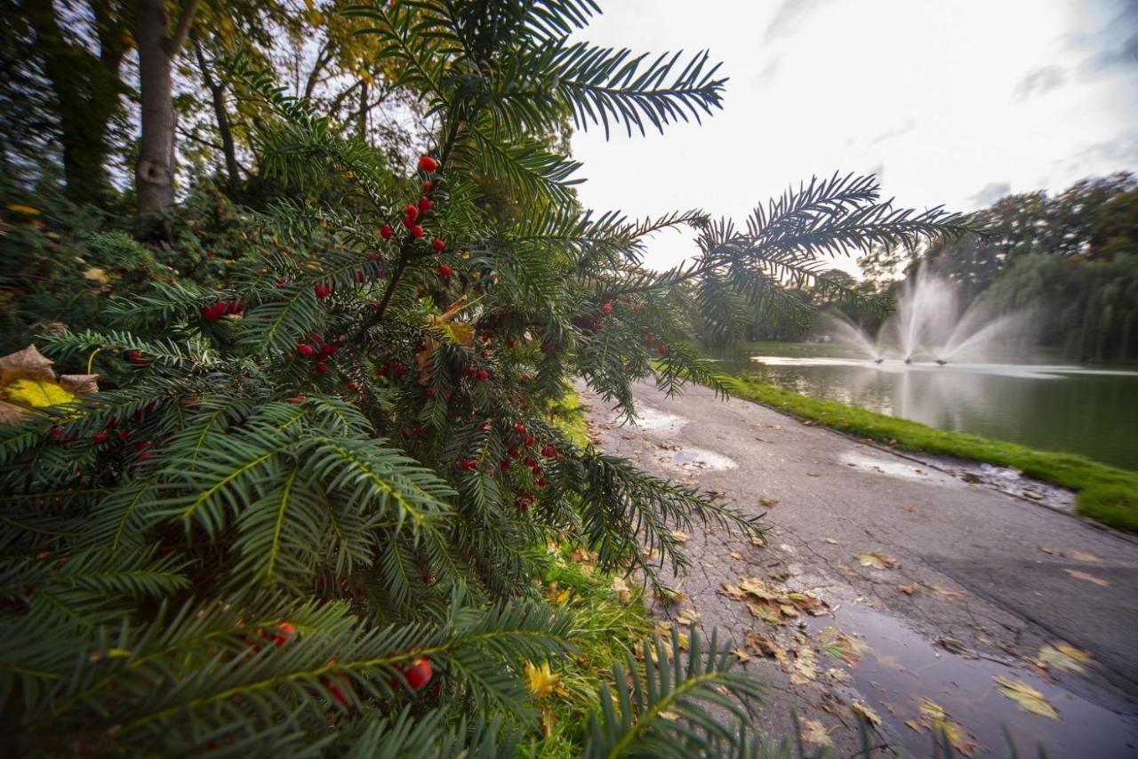
{"label": "dark green trees across the lake behind the fountain", "polygon": [[[888,304],[922,266],[959,287],[962,304],[980,299],[991,319],[1029,310],[1033,339],[1066,361],[1138,361],[1138,179],[1120,172],[1082,180],[1067,190],[1006,196],[972,214],[988,234],[935,240],[916,250],[874,247],[858,258],[865,278],[844,272],[827,279],[867,300],[816,282],[785,297],[843,312],[869,333],[888,317]],[[801,340],[817,331],[806,319],[760,315],[749,339]],[[790,314],[793,316],[793,312]]]}

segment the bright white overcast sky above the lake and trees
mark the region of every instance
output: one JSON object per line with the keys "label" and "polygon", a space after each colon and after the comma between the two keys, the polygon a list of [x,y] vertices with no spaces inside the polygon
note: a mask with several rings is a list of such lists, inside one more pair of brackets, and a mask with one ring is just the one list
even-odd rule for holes
{"label": "bright white overcast sky above the lake and trees", "polygon": [[[608,0],[582,36],[707,48],[729,77],[703,126],[574,137],[587,207],[742,222],[811,174],[877,174],[898,205],[1138,171],[1138,0]],[[675,233],[649,265],[692,251]],[[849,267],[849,264],[842,266]]]}

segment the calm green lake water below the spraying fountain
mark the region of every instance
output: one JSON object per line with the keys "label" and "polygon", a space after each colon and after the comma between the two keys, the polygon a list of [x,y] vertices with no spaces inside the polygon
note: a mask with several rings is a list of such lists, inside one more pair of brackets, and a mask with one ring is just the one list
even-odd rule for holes
{"label": "calm green lake water below the spraying fountain", "polygon": [[[720,356],[732,373],[819,398],[1138,469],[1138,371],[1063,364],[874,364],[814,344]],[[769,355],[775,354],[778,355]],[[826,355],[831,354],[831,355]]]}

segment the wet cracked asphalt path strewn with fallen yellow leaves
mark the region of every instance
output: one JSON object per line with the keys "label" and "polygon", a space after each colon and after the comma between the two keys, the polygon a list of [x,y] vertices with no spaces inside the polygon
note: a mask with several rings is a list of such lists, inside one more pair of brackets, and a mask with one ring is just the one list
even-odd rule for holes
{"label": "wet cracked asphalt path strewn with fallen yellow leaves", "polygon": [[[850,756],[853,707],[864,704],[881,718],[877,745],[923,756],[927,699],[980,753],[1003,752],[1006,728],[1021,751],[1038,743],[1058,757],[1138,756],[1133,538],[959,477],[962,462],[901,456],[707,388],[667,398],[635,385],[638,427],[577,389],[607,453],[766,513],[764,545],[714,526],[688,530],[692,566],[673,583],[683,600],[653,612],[694,609],[702,632],[717,628],[750,654],[743,666],[766,684],[759,721],[772,735],[792,732],[795,710],[820,723],[818,741]],[[863,561],[869,553],[889,561]],[[748,577],[813,593],[828,611],[760,619],[721,591]],[[819,640],[826,628],[859,653],[835,655]],[[782,655],[745,647],[756,634]],[[1090,659],[1041,655],[1062,644]],[[1031,686],[1058,718],[1023,711],[995,690],[996,677]]]}

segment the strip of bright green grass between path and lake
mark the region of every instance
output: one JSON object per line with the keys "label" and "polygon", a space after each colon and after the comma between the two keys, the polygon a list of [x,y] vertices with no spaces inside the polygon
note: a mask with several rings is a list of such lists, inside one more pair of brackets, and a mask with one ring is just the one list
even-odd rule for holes
{"label": "strip of bright green grass between path and lake", "polygon": [[1138,533],[1138,472],[1070,453],[1036,451],[979,435],[939,430],[834,401],[799,395],[758,380],[726,376],[723,379],[739,397],[894,448],[1014,467],[1029,477],[1074,490],[1078,496],[1075,510],[1083,517]]}

